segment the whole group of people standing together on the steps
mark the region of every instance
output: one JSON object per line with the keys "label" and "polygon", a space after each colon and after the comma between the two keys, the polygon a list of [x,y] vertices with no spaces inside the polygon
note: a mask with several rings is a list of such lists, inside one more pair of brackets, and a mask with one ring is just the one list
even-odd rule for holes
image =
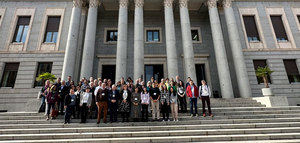
{"label": "whole group of people standing together on the steps", "polygon": [[[87,117],[97,118],[97,124],[102,120],[107,122],[118,121],[118,114],[122,122],[143,121],[147,122],[149,113],[152,121],[178,121],[178,112],[187,112],[187,99],[190,102],[190,115],[198,116],[197,100],[202,100],[202,116],[206,116],[205,103],[208,106],[208,115],[213,116],[210,109],[210,87],[204,80],[201,86],[194,84],[191,78],[184,84],[179,76],[176,79],[161,79],[160,82],[151,78],[145,83],[141,78],[135,82],[128,78],[113,84],[110,79],[89,80],[82,78],[77,85],[68,77],[67,81],[60,78],[53,84],[49,80],[41,89],[42,104],[39,112],[44,112],[47,120],[55,119],[58,114],[65,115],[65,124],[71,118],[79,118],[85,123]],[[51,112],[50,112],[51,111]],[[161,115],[162,114],[162,119]],[[51,115],[51,116],[50,116]]]}

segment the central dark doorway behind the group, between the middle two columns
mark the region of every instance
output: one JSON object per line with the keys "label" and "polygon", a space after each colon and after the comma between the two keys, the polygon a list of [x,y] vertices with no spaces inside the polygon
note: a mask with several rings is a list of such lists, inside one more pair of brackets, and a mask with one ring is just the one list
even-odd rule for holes
{"label": "central dark doorway behind the group, between the middle two columns", "polygon": [[164,78],[164,65],[145,65],[145,81],[150,81],[151,77],[160,82]]}

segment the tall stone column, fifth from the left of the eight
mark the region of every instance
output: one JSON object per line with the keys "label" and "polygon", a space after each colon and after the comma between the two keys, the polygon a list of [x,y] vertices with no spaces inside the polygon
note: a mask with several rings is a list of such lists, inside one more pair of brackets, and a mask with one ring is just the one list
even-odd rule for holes
{"label": "tall stone column, fifth from the left of the eight", "polygon": [[178,75],[178,55],[176,51],[173,1],[174,0],[165,0],[164,6],[168,77],[175,79],[175,77]]}

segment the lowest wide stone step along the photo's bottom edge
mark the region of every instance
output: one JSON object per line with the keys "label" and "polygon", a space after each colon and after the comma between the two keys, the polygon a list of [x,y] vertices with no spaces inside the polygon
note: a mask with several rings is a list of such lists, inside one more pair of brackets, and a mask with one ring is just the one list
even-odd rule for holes
{"label": "lowest wide stone step along the photo's bottom edge", "polygon": [[[34,136],[31,136],[34,137]],[[122,137],[122,138],[89,138],[84,139],[49,139],[49,140],[11,140],[10,142],[80,142],[80,143],[114,143],[114,142],[207,142],[207,141],[249,141],[249,140],[278,140],[278,139],[299,139],[300,133],[268,133],[268,134],[235,134],[235,135],[200,135],[200,136],[167,136],[167,137]]]}

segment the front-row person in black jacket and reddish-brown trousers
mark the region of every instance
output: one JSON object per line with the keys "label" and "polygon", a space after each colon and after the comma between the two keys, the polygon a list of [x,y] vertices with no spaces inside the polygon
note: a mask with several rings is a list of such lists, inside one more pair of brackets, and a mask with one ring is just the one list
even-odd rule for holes
{"label": "front-row person in black jacket and reddish-brown trousers", "polygon": [[98,90],[96,95],[96,104],[98,107],[97,124],[100,123],[102,110],[103,110],[103,123],[106,123],[106,115],[107,115],[107,108],[108,108],[107,101],[108,101],[108,91],[106,89],[106,84],[102,83],[102,88]]}

